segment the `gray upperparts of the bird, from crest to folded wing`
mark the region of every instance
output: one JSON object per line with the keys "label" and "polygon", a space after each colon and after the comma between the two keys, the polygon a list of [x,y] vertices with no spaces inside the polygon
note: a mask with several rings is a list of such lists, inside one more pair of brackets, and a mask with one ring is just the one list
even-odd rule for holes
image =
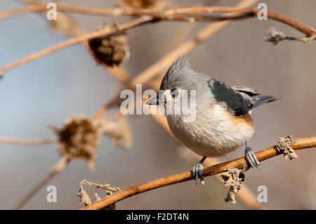
{"label": "gray upperparts of the bird, from crest to folded wing", "polygon": [[249,95],[227,86],[206,74],[192,70],[186,58],[178,58],[166,72],[160,89],[181,88],[196,91],[197,107],[223,105],[234,116],[244,116],[253,108]]}

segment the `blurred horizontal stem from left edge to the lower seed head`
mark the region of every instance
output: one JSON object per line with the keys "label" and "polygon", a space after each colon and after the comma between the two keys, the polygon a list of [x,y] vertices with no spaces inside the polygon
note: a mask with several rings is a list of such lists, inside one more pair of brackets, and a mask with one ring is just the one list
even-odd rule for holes
{"label": "blurred horizontal stem from left edge to the lower seed head", "polygon": [[23,139],[23,138],[8,138],[0,137],[0,143],[10,145],[45,145],[57,143],[57,138],[49,139]]}

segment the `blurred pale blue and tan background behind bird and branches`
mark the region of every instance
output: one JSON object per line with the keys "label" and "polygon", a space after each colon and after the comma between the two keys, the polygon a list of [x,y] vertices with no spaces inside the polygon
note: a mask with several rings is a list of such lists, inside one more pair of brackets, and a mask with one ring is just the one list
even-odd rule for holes
{"label": "blurred pale blue and tan background behind bird and branches", "polygon": [[[117,1],[65,0],[80,6],[117,7]],[[199,1],[210,6],[234,6],[238,1]],[[316,1],[264,1],[268,11],[287,15],[298,22],[316,27]],[[176,6],[195,6],[197,1],[175,1]],[[0,11],[25,6],[20,1],[1,0]],[[88,32],[112,17],[70,13]],[[122,16],[119,23],[131,20]],[[131,56],[122,65],[136,77],[171,49],[182,22],[158,22],[127,32]],[[193,27],[193,37],[208,23]],[[273,26],[285,34],[303,37],[295,29],[273,20],[254,18],[232,22],[191,51],[188,56],[194,70],[225,81],[229,85],[251,86],[280,100],[253,113],[256,133],[250,144],[254,151],[275,145],[288,134],[315,136],[316,132],[316,44],[282,41],[275,51],[265,42],[266,30]],[[48,27],[41,13],[31,13],[0,21],[0,63],[4,66],[31,53],[69,39]],[[48,125],[61,127],[75,114],[92,116],[111,100],[121,84],[110,72],[77,44],[51,53],[16,68],[0,81],[0,136],[51,138]],[[108,114],[115,114],[111,110]],[[98,147],[96,169],[88,169],[83,160],[74,160],[48,185],[57,187],[57,203],[46,202],[42,188],[24,209],[80,209],[79,183],[87,179],[96,183],[128,187],[174,173],[188,171],[198,159],[181,156],[180,147],[150,116],[130,115],[133,146],[121,150],[104,136]],[[0,145],[0,209],[13,209],[32,188],[45,178],[58,161],[58,145]],[[179,149],[180,148],[180,149]],[[270,209],[316,209],[316,151],[301,150],[298,159],[285,161],[281,156],[263,162],[261,169],[246,173],[245,184],[258,194],[259,185],[268,187]],[[220,161],[242,157],[240,148]],[[117,203],[117,209],[249,209],[244,204],[226,204],[228,189],[216,178],[206,178],[206,187],[188,181],[145,192]]]}

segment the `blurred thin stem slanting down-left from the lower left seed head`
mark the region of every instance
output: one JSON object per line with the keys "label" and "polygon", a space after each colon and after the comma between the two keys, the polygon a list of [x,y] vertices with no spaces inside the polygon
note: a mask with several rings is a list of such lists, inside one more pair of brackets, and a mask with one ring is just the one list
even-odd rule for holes
{"label": "blurred thin stem slanting down-left from the lower left seed head", "polygon": [[16,206],[15,209],[22,209],[23,206],[31,199],[34,195],[41,190],[42,187],[44,187],[56,174],[60,173],[62,170],[66,168],[66,166],[69,164],[70,159],[62,157],[53,167],[53,170],[48,173],[48,176],[44,178],[44,180],[41,180],[41,182],[33,188],[31,192],[25,196],[25,198],[22,199],[22,201]]}

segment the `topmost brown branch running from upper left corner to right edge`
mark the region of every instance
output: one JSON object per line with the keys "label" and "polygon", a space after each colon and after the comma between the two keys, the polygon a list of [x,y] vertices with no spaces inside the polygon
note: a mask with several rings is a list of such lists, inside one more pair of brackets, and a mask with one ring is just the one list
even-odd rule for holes
{"label": "topmost brown branch running from upper left corner to right edge", "polygon": [[[36,4],[32,7],[19,8],[13,11],[4,12],[3,15],[0,15],[1,18],[8,18],[9,16],[13,16],[15,14],[22,14],[27,12],[35,12],[35,11],[46,11],[46,4],[44,3],[33,3]],[[152,11],[145,8],[90,8],[86,6],[73,6],[69,4],[56,4],[58,11],[70,11],[73,13],[83,13],[90,15],[150,15],[154,18],[160,20],[191,20],[192,17],[179,15],[179,14],[204,14],[204,13],[244,13],[243,16],[247,16],[246,14],[250,14],[249,16],[254,16],[258,13],[256,8],[244,9],[244,8],[231,8],[231,7],[209,7],[209,6],[197,6],[190,8],[171,8],[167,11]],[[315,29],[311,29],[305,25],[302,25],[291,18],[288,18],[284,15],[279,15],[277,13],[268,12],[268,18],[273,20],[277,20],[279,22],[284,22],[285,24],[298,29],[309,37],[312,34],[315,34]],[[218,18],[220,20],[227,20],[229,18]],[[239,19],[237,18],[234,19]],[[214,21],[216,18],[213,17],[196,17],[195,21]]]}

